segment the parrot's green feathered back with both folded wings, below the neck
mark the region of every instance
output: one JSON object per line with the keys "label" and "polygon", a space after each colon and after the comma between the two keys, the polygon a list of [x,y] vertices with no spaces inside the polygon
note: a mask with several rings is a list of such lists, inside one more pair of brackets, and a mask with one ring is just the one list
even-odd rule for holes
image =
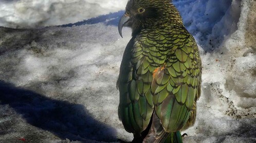
{"label": "parrot's green feathered back with both folded wings, below the neck", "polygon": [[[126,131],[141,134],[159,122],[165,132],[176,132],[191,122],[200,94],[200,63],[195,40],[180,23],[147,28],[133,37],[118,80],[119,117]],[[150,122],[154,110],[159,120]]]}

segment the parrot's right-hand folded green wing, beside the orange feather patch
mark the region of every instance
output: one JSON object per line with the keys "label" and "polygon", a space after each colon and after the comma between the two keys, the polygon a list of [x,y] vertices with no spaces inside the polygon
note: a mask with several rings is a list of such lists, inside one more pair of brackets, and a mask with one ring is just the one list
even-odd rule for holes
{"label": "parrot's right-hand folded green wing, beside the orange feather patch", "polygon": [[183,27],[171,27],[166,37],[172,50],[154,71],[151,85],[155,111],[166,132],[176,132],[186,124],[198,96],[201,72],[194,38]]}

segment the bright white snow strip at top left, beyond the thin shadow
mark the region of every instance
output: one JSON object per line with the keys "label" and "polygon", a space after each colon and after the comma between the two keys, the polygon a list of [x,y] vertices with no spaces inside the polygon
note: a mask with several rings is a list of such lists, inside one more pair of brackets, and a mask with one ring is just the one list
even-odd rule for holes
{"label": "bright white snow strip at top left, beyond the thin shadow", "polygon": [[34,28],[74,23],[125,8],[120,0],[2,0],[0,26]]}

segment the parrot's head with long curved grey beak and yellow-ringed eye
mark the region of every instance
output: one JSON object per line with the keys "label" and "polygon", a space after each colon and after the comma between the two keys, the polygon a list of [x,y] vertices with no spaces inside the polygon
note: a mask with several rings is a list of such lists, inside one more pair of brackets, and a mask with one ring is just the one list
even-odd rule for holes
{"label": "parrot's head with long curved grey beak and yellow-ringed eye", "polygon": [[134,36],[145,28],[168,22],[182,24],[180,14],[171,0],[129,0],[119,21],[118,31],[122,37],[123,26],[131,27]]}

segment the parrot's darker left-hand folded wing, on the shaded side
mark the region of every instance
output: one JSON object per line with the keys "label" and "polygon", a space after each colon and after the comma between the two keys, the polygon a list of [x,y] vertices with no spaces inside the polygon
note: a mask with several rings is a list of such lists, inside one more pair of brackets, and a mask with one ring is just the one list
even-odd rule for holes
{"label": "parrot's darker left-hand folded wing, on the shaded side", "polygon": [[148,127],[154,111],[152,67],[139,41],[134,37],[126,46],[118,79],[119,118],[126,131],[136,134]]}

